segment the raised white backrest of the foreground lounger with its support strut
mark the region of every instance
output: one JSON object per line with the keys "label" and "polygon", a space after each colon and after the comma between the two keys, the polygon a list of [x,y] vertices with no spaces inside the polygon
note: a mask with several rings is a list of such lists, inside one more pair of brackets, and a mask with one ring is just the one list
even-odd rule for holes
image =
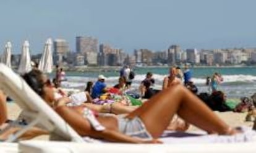
{"label": "raised white backrest of the foreground lounger with its support strut", "polygon": [[[51,109],[30,86],[25,83],[23,78],[14,73],[11,68],[0,64],[0,89],[10,96],[22,109],[22,117],[28,125],[22,126],[22,130],[10,136],[6,142],[15,141],[21,134],[25,133],[33,126],[39,126],[50,133],[54,133],[54,138],[62,138],[69,141],[82,142],[83,139],[77,134],[64,120]],[[19,120],[11,123],[17,126]],[[0,133],[3,133],[2,130]]]}

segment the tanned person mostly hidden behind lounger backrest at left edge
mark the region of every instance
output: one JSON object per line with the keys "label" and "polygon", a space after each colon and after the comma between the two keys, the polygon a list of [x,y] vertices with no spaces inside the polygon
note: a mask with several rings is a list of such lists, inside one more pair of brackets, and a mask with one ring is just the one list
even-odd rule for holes
{"label": "tanned person mostly hidden behind lounger backrest at left edge", "polygon": [[[7,123],[7,106],[6,106],[6,95],[0,90],[0,131],[9,123]],[[0,141],[7,139],[11,134],[19,131],[20,127],[12,127],[0,134]],[[19,139],[32,139],[41,134],[48,134],[47,131],[41,130],[40,128],[33,127],[30,130],[26,131]]]}

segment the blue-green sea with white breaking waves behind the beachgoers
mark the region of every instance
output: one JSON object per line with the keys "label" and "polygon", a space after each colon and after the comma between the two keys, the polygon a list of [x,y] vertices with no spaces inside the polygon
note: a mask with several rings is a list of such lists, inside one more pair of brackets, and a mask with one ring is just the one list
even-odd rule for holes
{"label": "blue-green sea with white breaking waves behind the beachgoers", "polygon": [[[252,96],[256,93],[256,68],[254,67],[207,67],[190,68],[192,70],[192,80],[198,86],[199,92],[207,92],[208,86],[205,86],[206,78],[211,77],[213,73],[218,72],[224,78],[220,89],[227,94],[229,98],[239,98],[242,96]],[[135,78],[132,82],[132,88],[137,89],[140,82],[145,78],[147,72],[153,73],[155,78],[155,88],[161,88],[163,78],[168,75],[169,68],[135,68]],[[113,86],[117,83],[119,72],[66,72],[67,81],[62,83],[64,88],[84,89],[87,81],[95,82],[98,75],[107,77],[106,84]],[[53,78],[54,73],[50,74]]]}

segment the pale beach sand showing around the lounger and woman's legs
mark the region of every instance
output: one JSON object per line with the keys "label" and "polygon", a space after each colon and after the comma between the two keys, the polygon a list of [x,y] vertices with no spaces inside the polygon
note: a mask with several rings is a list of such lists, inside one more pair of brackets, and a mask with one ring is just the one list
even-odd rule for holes
{"label": "pale beach sand showing around the lounger and woman's legs", "polygon": [[[8,109],[8,117],[11,120],[15,120],[20,114],[20,107],[19,105],[15,104],[15,102],[8,102],[7,103],[7,109]],[[246,113],[234,113],[234,112],[215,112],[217,115],[219,115],[228,125],[231,125],[233,127],[235,126],[253,126],[253,122],[245,122],[245,116]],[[197,131],[199,130],[195,126],[190,126],[188,131]],[[38,136],[34,138],[36,140],[48,140],[48,135]]]}

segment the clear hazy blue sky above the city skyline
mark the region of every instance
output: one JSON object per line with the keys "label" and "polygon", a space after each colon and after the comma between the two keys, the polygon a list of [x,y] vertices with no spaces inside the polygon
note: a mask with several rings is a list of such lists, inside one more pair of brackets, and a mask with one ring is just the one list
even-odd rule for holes
{"label": "clear hazy blue sky above the city skyline", "polygon": [[0,54],[7,41],[20,54],[43,52],[47,38],[75,51],[75,36],[93,36],[128,53],[147,48],[256,47],[255,0],[2,0]]}

